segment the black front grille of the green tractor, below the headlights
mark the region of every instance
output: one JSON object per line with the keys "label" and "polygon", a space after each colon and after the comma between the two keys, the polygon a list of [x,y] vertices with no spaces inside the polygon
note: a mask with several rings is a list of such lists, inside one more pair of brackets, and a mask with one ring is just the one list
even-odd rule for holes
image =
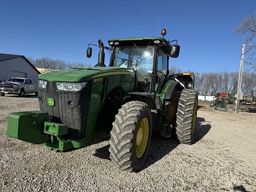
{"label": "black front grille of the green tractor, below the headlights", "polygon": [[[60,92],[48,81],[46,89],[38,89],[40,110],[49,113],[51,122],[68,125],[66,139],[81,139],[85,134],[91,92],[91,82],[80,92]],[[48,98],[54,100],[53,106],[48,104]]]}

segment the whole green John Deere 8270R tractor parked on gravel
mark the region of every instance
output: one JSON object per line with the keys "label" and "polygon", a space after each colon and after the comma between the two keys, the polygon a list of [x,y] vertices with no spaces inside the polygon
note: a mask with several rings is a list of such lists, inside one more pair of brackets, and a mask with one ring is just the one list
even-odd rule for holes
{"label": "whole green John Deere 8270R tractor parked on gravel", "polygon": [[[178,57],[180,46],[165,34],[163,29],[162,37],[110,39],[110,47],[99,40],[95,67],[40,75],[40,111],[9,114],[7,135],[60,151],[80,148],[96,134],[111,135],[110,158],[127,172],[144,163],[152,134],[192,144],[194,74],[169,74],[169,57]],[[104,49],[112,52],[108,67]]]}

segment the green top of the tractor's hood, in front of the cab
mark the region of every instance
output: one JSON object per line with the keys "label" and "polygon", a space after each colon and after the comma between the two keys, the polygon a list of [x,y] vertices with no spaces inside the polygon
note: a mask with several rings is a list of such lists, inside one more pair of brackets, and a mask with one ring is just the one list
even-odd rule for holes
{"label": "green top of the tractor's hood, in front of the cab", "polygon": [[62,82],[83,82],[94,78],[121,74],[134,75],[134,72],[131,68],[119,67],[72,68],[46,73],[40,75],[38,79]]}

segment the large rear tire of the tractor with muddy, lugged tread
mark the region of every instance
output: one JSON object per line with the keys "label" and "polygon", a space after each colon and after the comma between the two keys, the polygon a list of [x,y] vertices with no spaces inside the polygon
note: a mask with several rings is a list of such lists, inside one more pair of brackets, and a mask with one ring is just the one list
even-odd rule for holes
{"label": "large rear tire of the tractor with muddy, lugged tread", "polygon": [[196,89],[184,89],[180,94],[176,121],[176,134],[180,143],[193,143],[196,128],[197,98],[198,92]]}

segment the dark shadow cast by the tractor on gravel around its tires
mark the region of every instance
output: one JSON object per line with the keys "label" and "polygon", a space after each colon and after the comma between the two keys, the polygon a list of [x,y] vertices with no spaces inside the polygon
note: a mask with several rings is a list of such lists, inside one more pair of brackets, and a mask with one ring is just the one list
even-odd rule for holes
{"label": "dark shadow cast by the tractor on gravel around its tires", "polygon": [[[195,141],[194,143],[201,140],[210,130],[211,125],[205,124],[205,119],[201,117],[197,117],[197,123],[196,123],[196,132],[195,132]],[[105,141],[110,139],[109,136],[104,136],[104,139],[95,138],[95,140],[90,141],[86,146],[90,144],[100,143],[100,141]],[[161,160],[164,156],[168,155],[172,150],[174,150],[178,145],[179,141],[177,139],[172,138],[163,138],[161,137],[158,132],[152,132],[151,137],[151,143],[149,147],[148,156],[146,158],[146,161],[142,168],[140,168],[139,172],[148,168],[152,164],[156,163],[157,161]],[[97,148],[95,151],[95,154],[93,156],[96,156],[100,159],[110,160],[109,158],[109,144],[105,145],[102,148]]]}

